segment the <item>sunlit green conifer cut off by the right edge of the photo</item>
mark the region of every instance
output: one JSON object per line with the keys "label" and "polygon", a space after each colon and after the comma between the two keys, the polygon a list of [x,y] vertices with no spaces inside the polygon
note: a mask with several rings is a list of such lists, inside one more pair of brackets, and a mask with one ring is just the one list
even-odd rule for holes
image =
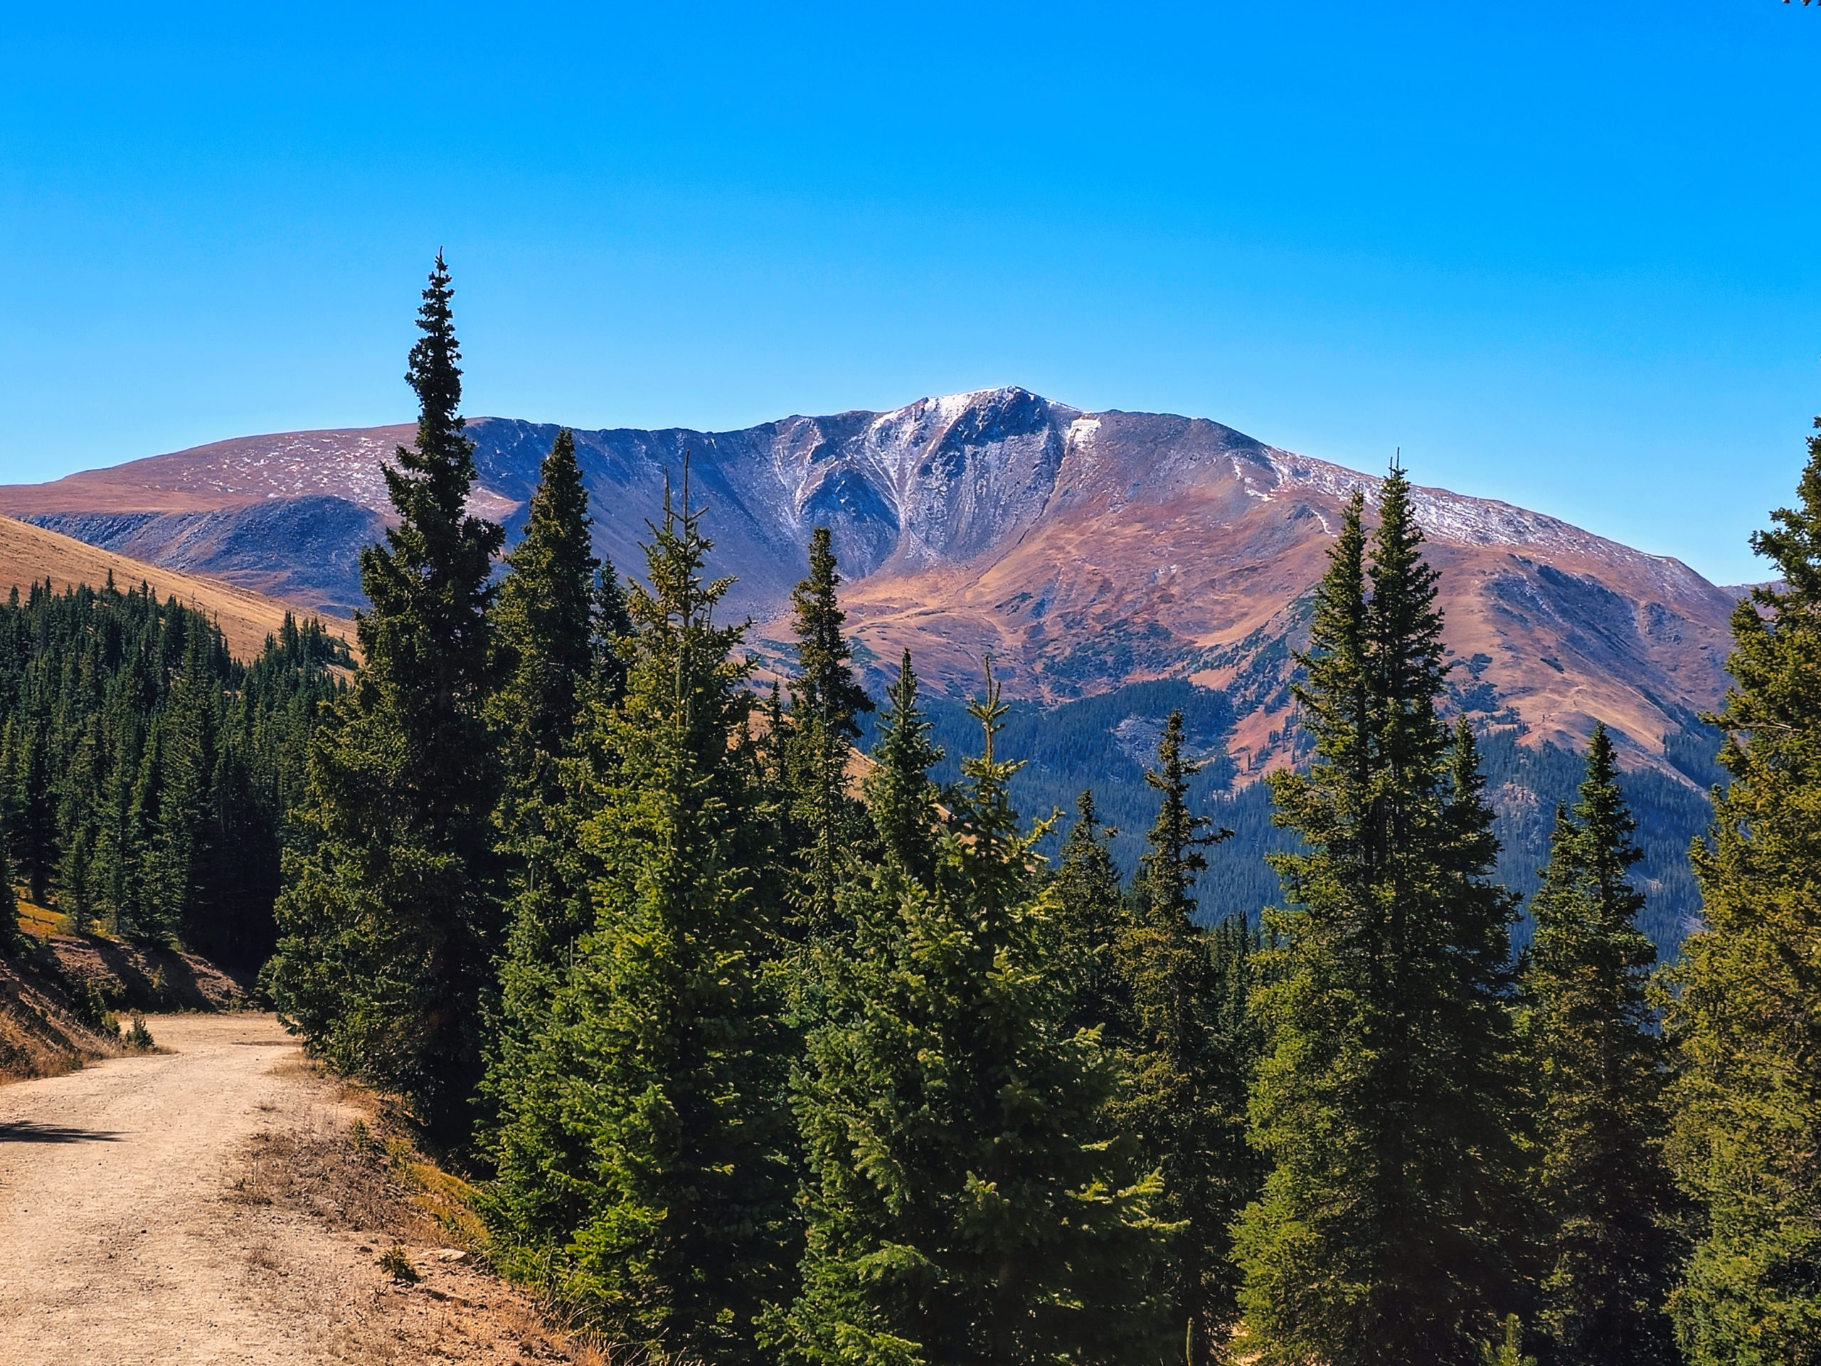
{"label": "sunlit green conifer cut off by the right edge of the photo", "polygon": [[1821,437],[1797,492],[1752,537],[1781,581],[1734,612],[1732,781],[1670,971],[1670,1160],[1701,1213],[1670,1308],[1694,1366],[1821,1362]]}

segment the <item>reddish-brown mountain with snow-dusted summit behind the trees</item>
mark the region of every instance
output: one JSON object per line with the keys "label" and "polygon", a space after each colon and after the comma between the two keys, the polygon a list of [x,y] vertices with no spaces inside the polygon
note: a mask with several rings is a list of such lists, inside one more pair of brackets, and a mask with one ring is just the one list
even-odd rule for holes
{"label": "reddish-brown mountain with snow-dusted summit behind the trees", "polygon": [[[475,510],[515,532],[555,432],[470,421]],[[390,515],[381,461],[410,437],[240,437],[4,486],[0,514],[344,616],[361,601],[359,548]],[[1204,794],[1226,794],[1249,838],[1251,891],[1231,909],[1271,894],[1253,867],[1273,834],[1251,780],[1298,758],[1287,683],[1309,590],[1348,495],[1373,499],[1378,477],[1207,419],[1087,413],[1020,388],[739,432],[577,430],[575,448],[595,545],[621,570],[641,566],[646,521],[666,481],[681,494],[688,461],[690,497],[710,508],[712,568],[738,576],[728,610],[756,619],[754,645],[772,658],[788,650],[783,614],[809,530],[829,525],[870,681],[910,647],[956,752],[972,738],[954,699],[980,687],[991,654],[1020,701],[1007,745],[1031,759],[1027,809],[1096,785],[1127,831],[1127,861],[1149,821],[1142,765],[1162,716],[1184,707],[1209,759]],[[1486,734],[1508,876],[1533,882],[1550,812],[1573,785],[1572,750],[1602,719],[1644,812],[1659,940],[1673,942],[1694,907],[1683,854],[1715,778],[1715,738],[1697,716],[1724,690],[1737,590],[1506,503],[1422,488],[1419,512],[1440,570],[1453,705]],[[1235,869],[1218,874],[1229,900],[1244,882]]]}

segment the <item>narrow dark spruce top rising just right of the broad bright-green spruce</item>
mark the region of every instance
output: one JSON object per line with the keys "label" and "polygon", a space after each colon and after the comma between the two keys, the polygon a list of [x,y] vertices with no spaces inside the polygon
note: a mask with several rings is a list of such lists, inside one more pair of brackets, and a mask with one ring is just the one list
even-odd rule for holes
{"label": "narrow dark spruce top rising just right of the broad bright-green spruce", "polygon": [[852,647],[841,634],[847,614],[836,590],[834,546],[827,526],[809,541],[809,576],[790,592],[798,668],[790,678],[790,727],[785,747],[794,818],[803,832],[803,912],[810,936],[834,927],[834,892],[843,851],[863,821],[847,792],[847,756],[860,739],[860,714],[872,699],[854,679]]}

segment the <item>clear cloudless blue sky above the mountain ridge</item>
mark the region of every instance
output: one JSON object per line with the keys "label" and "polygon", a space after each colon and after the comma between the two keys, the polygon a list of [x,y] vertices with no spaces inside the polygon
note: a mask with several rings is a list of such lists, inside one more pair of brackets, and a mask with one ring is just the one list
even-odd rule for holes
{"label": "clear cloudless blue sky above the mountain ridge", "polygon": [[0,479],[1025,384],[1721,581],[1821,412],[1821,11],[91,5],[0,46]]}

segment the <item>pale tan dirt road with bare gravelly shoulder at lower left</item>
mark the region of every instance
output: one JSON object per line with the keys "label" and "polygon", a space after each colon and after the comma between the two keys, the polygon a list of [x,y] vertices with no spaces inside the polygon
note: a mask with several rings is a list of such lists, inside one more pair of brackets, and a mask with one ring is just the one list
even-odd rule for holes
{"label": "pale tan dirt road with bare gravelly shoulder at lower left", "polygon": [[[166,1053],[0,1087],[0,1362],[577,1359],[433,1222],[350,1195],[361,1111],[271,1016],[148,1024]],[[419,1284],[381,1269],[395,1240]]]}

